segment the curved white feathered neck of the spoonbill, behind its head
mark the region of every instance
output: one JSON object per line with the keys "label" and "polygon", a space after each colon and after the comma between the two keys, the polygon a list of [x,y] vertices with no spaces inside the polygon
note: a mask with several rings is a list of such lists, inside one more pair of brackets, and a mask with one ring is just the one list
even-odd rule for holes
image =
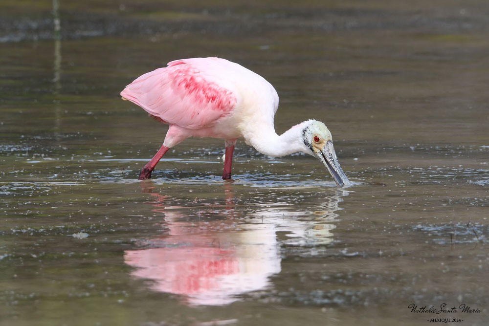
{"label": "curved white feathered neck of the spoonbill, behind its head", "polygon": [[245,136],[246,143],[253,146],[262,154],[276,157],[295,152],[305,152],[302,140],[302,124],[293,126],[281,135],[275,132],[273,126],[262,126]]}

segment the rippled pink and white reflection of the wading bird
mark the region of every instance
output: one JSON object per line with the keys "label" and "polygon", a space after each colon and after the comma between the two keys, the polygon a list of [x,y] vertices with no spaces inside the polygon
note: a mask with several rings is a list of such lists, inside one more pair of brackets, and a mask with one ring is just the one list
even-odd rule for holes
{"label": "rippled pink and white reflection of the wading bird", "polygon": [[[125,262],[135,267],[134,277],[152,280],[153,290],[181,295],[191,305],[230,304],[240,294],[270,286],[270,277],[281,270],[277,231],[283,231],[291,245],[333,241],[334,211],[340,196],[347,195],[343,190],[329,196],[311,217],[311,212],[297,212],[283,203],[236,204],[230,182],[225,183],[223,205],[190,210],[158,194],[151,180],[141,186],[154,198],[149,202],[153,211],[164,216],[166,232],[144,241],[139,250],[127,250]],[[189,215],[196,218],[189,220]]]}

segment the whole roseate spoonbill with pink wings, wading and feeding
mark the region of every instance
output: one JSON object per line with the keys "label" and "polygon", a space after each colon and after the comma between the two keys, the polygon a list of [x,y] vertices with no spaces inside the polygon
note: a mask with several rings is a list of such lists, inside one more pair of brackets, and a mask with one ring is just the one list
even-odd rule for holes
{"label": "whole roseate spoonbill with pink wings, wading and feeding", "polygon": [[139,180],[151,173],[163,155],[189,137],[222,138],[226,152],[223,179],[231,178],[238,138],[268,156],[304,152],[317,157],[340,187],[348,184],[333,148],[331,132],[316,120],[293,126],[281,135],[273,118],[278,95],[263,77],[219,58],[176,60],[148,72],[120,93],[156,120],[170,125],[156,155],[144,166]]}

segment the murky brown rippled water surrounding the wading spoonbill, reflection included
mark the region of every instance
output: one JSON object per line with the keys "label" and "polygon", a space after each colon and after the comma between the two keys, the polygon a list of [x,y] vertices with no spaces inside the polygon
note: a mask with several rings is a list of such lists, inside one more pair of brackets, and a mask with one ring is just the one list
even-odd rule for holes
{"label": "murky brown rippled water surrounding the wading spoonbill, reflection included", "polygon": [[[62,1],[59,40],[6,2],[1,325],[487,325],[484,1]],[[243,142],[224,182],[210,139],[137,181],[166,127],[118,92],[194,56],[265,76],[278,131],[324,121],[354,184]]]}

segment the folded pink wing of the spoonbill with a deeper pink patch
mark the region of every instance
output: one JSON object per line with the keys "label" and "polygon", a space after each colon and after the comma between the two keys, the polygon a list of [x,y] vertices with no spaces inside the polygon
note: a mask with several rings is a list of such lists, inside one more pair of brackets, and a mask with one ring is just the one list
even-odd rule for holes
{"label": "folded pink wing of the spoonbill with a deeper pink patch", "polygon": [[[218,84],[212,69],[219,59],[172,61],[165,68],[148,72],[121,92],[121,96],[171,125],[188,129],[212,126],[231,112],[237,97]],[[197,63],[197,64],[194,64]]]}

